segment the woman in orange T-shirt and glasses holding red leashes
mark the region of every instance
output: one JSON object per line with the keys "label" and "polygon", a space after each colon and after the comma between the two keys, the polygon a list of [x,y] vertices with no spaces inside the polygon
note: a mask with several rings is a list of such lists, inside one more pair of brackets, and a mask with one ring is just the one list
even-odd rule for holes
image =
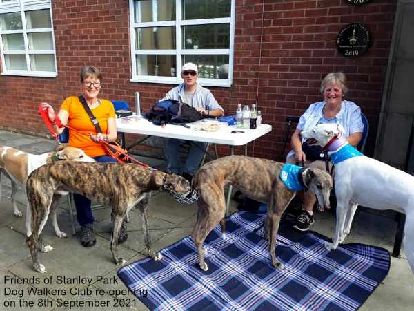
{"label": "woman in orange T-shirt and glasses holding red leashes", "polygon": [[[57,115],[63,124],[90,134],[88,136],[70,131],[69,146],[82,149],[97,162],[117,162],[115,158],[106,154],[106,150],[99,142],[100,140],[110,142],[117,138],[115,109],[112,102],[98,97],[101,86],[102,75],[99,69],[92,66],[86,66],[81,69],[81,96],[83,96],[90,111],[92,111],[98,120],[102,133],[97,133],[92,120],[90,120],[78,96],[66,98],[61,104],[61,109]],[[46,103],[43,106],[48,108],[50,120],[55,120],[55,111],[53,111],[52,106]],[[56,131],[60,134],[63,128],[56,129]],[[81,230],[79,231],[81,244],[85,247],[93,246],[96,243],[93,230],[95,218],[90,208],[90,200],[79,194],[74,194],[74,200],[77,220],[81,226]],[[121,232],[119,233],[118,243],[124,243],[127,238],[126,225],[123,223]]]}

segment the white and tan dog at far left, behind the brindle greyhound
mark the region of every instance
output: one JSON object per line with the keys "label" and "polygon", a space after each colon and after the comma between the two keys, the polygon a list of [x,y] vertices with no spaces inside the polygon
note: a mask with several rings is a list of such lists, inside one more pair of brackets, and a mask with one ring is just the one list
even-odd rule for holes
{"label": "white and tan dog at far left, behind the brindle greyhound", "polygon": [[[4,173],[12,182],[12,204],[14,208],[14,215],[21,217],[21,211],[17,208],[14,196],[17,192],[17,185],[26,189],[26,181],[32,171],[41,167],[42,165],[58,160],[72,160],[80,162],[95,162],[94,159],[86,156],[86,153],[81,149],[75,147],[61,147],[57,151],[32,154],[26,153],[19,149],[14,149],[8,146],[0,146],[0,198],[1,198],[1,173]],[[26,208],[26,227],[30,228],[30,209]],[[61,232],[57,224],[56,214],[52,215],[53,228],[55,234],[59,238],[66,236],[65,232]]]}

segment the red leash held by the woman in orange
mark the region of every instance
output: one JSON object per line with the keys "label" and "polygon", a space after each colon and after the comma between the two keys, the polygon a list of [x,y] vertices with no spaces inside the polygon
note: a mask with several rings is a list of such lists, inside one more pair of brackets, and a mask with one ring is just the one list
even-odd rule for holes
{"label": "red leash held by the woman in orange", "polygon": [[[55,122],[52,122],[52,120],[50,120],[50,118],[49,118],[48,109],[47,108],[42,108],[41,104],[39,105],[38,112],[40,113],[41,117],[43,118],[43,121],[45,122],[46,126],[48,127],[48,130],[49,130],[50,134],[55,138],[55,140],[59,140],[59,138],[58,138],[58,135],[57,135],[55,129],[53,129],[53,125],[57,125],[58,127],[65,127],[66,129],[70,129],[70,131],[75,131],[75,132],[77,132],[81,135],[86,135],[86,136],[90,137],[89,133],[79,131],[77,129],[72,128],[71,126],[62,124],[61,120],[59,119],[59,117],[57,115],[55,115]],[[132,158],[130,155],[128,155],[128,152],[125,149],[122,149],[121,146],[119,146],[119,144],[117,144],[117,143],[110,144],[109,142],[106,142],[105,140],[101,140],[101,139],[99,139],[99,142],[101,144],[105,144],[108,149],[111,149],[110,150],[111,153],[112,152],[115,153],[115,154],[119,153],[119,156],[124,156],[126,160],[130,160],[131,162],[139,164],[143,167],[150,167],[148,164],[143,163],[143,162],[139,162],[135,158]],[[115,151],[112,151],[112,150],[115,150]],[[120,163],[124,162],[123,160],[119,159],[119,156],[114,156],[112,154],[110,156],[112,156],[112,158],[115,158]]]}

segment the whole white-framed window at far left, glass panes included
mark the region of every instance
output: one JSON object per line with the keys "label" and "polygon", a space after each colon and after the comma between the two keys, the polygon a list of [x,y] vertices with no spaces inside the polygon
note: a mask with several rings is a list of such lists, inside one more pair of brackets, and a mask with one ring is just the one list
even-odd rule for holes
{"label": "whole white-framed window at far left, glass panes included", "polygon": [[56,77],[49,0],[0,1],[3,75]]}

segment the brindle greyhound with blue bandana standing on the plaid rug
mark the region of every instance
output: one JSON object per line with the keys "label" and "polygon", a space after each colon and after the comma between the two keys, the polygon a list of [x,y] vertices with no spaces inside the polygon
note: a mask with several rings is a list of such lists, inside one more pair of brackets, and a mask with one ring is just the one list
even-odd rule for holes
{"label": "brindle greyhound with blue bandana standing on the plaid rug", "polygon": [[[192,236],[198,249],[199,266],[202,270],[208,270],[203,258],[203,243],[206,236],[219,222],[221,231],[224,233],[225,230],[226,184],[240,189],[249,198],[267,203],[266,236],[270,239],[270,257],[274,267],[282,268],[275,254],[277,230],[280,217],[296,194],[279,178],[283,166],[284,163],[266,159],[227,156],[208,162],[199,169],[193,180],[193,185],[199,192],[199,208]],[[315,168],[303,169],[298,178],[316,195],[319,206],[329,208],[332,178],[326,171]]]}

